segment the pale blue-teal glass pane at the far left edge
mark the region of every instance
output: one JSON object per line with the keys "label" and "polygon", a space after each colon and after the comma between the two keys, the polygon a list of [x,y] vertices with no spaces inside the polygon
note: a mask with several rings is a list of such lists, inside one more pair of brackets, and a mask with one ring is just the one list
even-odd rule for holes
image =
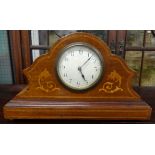
{"label": "pale blue-teal glass pane at the far left edge", "polygon": [[0,84],[12,84],[7,31],[0,30]]}

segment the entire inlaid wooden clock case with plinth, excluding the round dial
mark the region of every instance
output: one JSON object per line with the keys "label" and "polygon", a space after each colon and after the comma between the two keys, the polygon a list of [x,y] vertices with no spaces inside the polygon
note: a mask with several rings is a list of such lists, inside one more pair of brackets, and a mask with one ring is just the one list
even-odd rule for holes
{"label": "entire inlaid wooden clock case with plinth, excluding the round dial", "polygon": [[[85,91],[66,88],[56,72],[59,54],[75,42],[95,47],[104,60],[102,79]],[[24,74],[28,85],[4,106],[6,119],[148,120],[151,116],[151,107],[132,89],[135,72],[111,54],[102,40],[88,33],[61,38]]]}

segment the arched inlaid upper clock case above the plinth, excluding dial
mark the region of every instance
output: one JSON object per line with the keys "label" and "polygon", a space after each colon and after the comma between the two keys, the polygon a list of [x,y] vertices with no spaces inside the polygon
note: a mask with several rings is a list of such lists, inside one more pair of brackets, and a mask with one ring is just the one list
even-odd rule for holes
{"label": "arched inlaid upper clock case above the plinth, excluding dial", "polygon": [[[104,75],[98,84],[86,91],[67,89],[56,72],[60,52],[70,44],[85,43],[96,48],[104,59]],[[40,56],[24,70],[27,87],[15,99],[48,99],[65,101],[133,101],[139,95],[133,90],[131,81],[135,72],[123,59],[111,54],[101,39],[88,33],[74,33],[57,41],[47,54]]]}

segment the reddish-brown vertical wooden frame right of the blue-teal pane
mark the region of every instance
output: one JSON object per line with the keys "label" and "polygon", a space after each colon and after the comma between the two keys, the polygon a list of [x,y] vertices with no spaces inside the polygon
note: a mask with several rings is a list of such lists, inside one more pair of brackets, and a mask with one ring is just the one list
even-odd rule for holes
{"label": "reddish-brown vertical wooden frame right of the blue-teal pane", "polygon": [[15,84],[25,83],[23,69],[31,65],[29,31],[9,31],[11,58]]}

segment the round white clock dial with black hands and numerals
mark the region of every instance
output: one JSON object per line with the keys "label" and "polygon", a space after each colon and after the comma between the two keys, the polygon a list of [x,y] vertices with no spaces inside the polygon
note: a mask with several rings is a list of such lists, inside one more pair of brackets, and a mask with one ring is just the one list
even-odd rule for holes
{"label": "round white clock dial with black hands and numerals", "polygon": [[67,87],[85,90],[99,81],[103,72],[103,60],[95,48],[75,43],[62,51],[57,63],[57,72]]}

